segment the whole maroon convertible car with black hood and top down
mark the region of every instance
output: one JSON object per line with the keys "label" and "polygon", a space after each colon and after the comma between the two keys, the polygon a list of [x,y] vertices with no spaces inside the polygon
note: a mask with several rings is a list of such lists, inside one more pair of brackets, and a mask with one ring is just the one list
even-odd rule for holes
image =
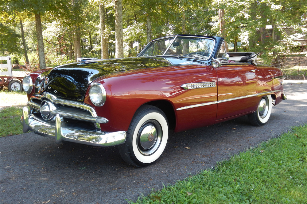
{"label": "whole maroon convertible car with black hood and top down", "polygon": [[172,35],[138,57],[80,58],[26,75],[23,132],[119,147],[130,165],[162,155],[169,130],[208,126],[248,115],[261,126],[286,100],[280,69],[257,66],[257,54],[226,53],[221,37]]}

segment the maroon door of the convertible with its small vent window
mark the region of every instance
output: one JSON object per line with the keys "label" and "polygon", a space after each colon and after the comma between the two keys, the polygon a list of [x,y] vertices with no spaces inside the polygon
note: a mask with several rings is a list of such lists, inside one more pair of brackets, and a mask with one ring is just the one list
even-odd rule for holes
{"label": "maroon door of the convertible with its small vent window", "polygon": [[[225,50],[222,45],[220,54]],[[257,76],[253,65],[222,64],[216,68],[218,105],[216,120],[251,112],[257,105]]]}

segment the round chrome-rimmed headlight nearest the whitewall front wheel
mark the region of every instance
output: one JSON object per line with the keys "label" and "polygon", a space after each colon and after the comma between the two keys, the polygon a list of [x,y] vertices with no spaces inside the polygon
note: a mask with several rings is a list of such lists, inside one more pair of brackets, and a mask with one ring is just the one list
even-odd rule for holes
{"label": "round chrome-rimmed headlight nearest the whitewall front wheel", "polygon": [[102,106],[107,99],[107,93],[103,85],[100,83],[94,83],[90,88],[90,99],[95,106]]}

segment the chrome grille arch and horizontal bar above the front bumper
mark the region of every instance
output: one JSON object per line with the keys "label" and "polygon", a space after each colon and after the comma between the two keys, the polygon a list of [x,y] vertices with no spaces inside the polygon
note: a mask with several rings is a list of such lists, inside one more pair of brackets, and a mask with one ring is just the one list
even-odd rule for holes
{"label": "chrome grille arch and horizontal bar above the front bumper", "polygon": [[[64,105],[64,106],[71,106],[69,107],[58,107],[55,110],[52,110],[51,114],[53,116],[56,116],[56,114],[60,114],[64,118],[71,118],[76,119],[80,121],[88,121],[88,122],[94,122],[95,127],[100,129],[100,123],[107,123],[108,120],[103,117],[98,117],[95,109],[91,107],[90,105],[87,105],[82,102],[76,102],[71,101],[67,99],[57,98],[55,95],[44,92],[42,95],[34,94],[31,96],[30,101],[27,103],[28,106],[30,106],[33,109],[36,109],[37,111],[40,111],[41,105],[35,103],[35,99],[39,101],[43,101],[44,99],[48,99],[54,104]],[[83,113],[81,113],[82,110],[78,111],[73,108],[78,108],[84,110]]]}

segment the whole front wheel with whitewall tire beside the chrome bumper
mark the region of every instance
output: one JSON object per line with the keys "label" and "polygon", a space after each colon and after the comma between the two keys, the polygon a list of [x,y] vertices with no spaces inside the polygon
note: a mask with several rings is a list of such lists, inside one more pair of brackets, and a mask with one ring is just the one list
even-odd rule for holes
{"label": "whole front wheel with whitewall tire beside the chrome bumper", "polygon": [[129,126],[126,142],[119,145],[119,153],[128,164],[145,167],[162,155],[169,136],[165,114],[155,106],[142,106]]}

